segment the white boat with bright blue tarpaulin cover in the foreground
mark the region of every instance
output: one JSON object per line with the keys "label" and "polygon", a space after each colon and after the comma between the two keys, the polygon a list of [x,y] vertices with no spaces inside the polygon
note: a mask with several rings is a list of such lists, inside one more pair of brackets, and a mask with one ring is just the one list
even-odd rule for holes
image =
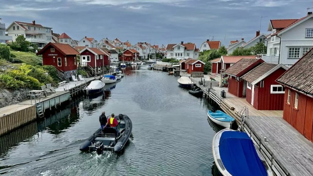
{"label": "white boat with bright blue tarpaulin cover in the foreground", "polygon": [[273,176],[247,133],[223,129],[212,142],[215,164],[223,176]]}

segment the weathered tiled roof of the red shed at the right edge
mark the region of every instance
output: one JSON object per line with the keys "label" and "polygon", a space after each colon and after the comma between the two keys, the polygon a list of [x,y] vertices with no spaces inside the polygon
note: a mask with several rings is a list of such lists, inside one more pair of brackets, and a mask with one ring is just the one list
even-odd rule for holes
{"label": "weathered tiled roof of the red shed at the right edge", "polygon": [[313,96],[313,50],[292,65],[276,81]]}

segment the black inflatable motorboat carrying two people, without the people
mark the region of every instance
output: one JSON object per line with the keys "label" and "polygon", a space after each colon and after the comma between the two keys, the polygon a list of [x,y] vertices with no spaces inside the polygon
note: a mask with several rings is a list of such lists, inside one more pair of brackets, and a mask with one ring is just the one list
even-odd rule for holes
{"label": "black inflatable motorboat carrying two people, without the people", "polygon": [[98,154],[101,154],[104,150],[120,152],[131,136],[132,122],[125,114],[119,114],[115,118],[119,122],[120,135],[116,136],[114,128],[106,127],[103,130],[99,128],[80,145],[80,151],[96,151]]}

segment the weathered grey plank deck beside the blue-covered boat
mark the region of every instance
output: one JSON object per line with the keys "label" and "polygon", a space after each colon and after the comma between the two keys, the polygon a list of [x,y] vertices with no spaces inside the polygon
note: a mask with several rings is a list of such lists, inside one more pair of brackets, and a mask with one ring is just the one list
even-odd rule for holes
{"label": "weathered grey plank deck beside the blue-covered boat", "polygon": [[[249,108],[250,112],[255,114],[252,108]],[[277,116],[249,116],[246,124],[262,140],[261,143],[269,153],[273,153],[275,161],[285,170],[286,175],[313,175],[313,143],[284,119]],[[266,142],[264,137],[267,138]]]}

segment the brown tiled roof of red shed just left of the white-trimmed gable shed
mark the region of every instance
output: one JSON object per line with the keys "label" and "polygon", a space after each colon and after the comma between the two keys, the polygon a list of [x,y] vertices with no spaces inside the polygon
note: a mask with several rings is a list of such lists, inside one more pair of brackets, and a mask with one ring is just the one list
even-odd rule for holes
{"label": "brown tiled roof of red shed just left of the white-trimmed gable shed", "polygon": [[223,71],[223,73],[239,77],[245,74],[246,72],[248,72],[249,70],[251,70],[249,68],[251,68],[252,66],[258,63],[263,63],[263,62],[264,60],[255,59],[255,58],[254,59],[241,59],[237,63],[235,63],[234,65],[230,66],[228,69]]}

